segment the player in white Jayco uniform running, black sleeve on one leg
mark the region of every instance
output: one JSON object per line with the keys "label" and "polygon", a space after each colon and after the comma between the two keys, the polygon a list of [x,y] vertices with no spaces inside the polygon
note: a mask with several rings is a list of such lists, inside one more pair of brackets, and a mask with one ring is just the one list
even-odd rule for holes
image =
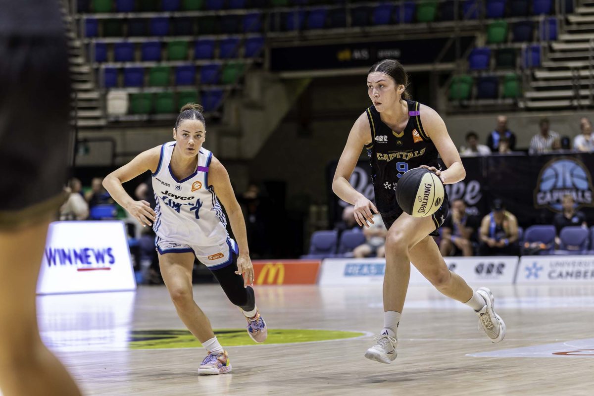
{"label": "player in white Jayco uniform running, black sleeve on one leg", "polygon": [[[153,226],[161,274],[173,305],[208,353],[198,374],[212,375],[230,372],[231,364],[207,316],[194,302],[194,256],[212,271],[229,300],[244,313],[252,340],[263,343],[267,327],[255,306],[254,289],[248,286],[254,281],[254,268],[244,217],[225,167],[202,147],[206,123],[201,111],[193,103],[182,107],[173,128],[175,141],[139,154],[110,173],[103,185],[128,213],[144,226]],[[154,211],[148,202],[134,201],[122,187],[147,170],[153,175]],[[229,237],[219,199],[237,242]]]}

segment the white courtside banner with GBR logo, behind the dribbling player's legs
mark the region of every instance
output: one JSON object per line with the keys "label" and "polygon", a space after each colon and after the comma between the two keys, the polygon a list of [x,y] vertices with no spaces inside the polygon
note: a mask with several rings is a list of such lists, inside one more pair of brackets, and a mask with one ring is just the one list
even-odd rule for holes
{"label": "white courtside banner with GBR logo, behind the dribbling player's legs", "polygon": [[[517,256],[446,257],[445,264],[469,283],[511,284],[516,274],[518,258]],[[385,271],[386,260],[383,258],[325,259],[322,262],[320,285],[381,283],[384,280]],[[411,264],[409,284],[427,285],[429,281]]]}

